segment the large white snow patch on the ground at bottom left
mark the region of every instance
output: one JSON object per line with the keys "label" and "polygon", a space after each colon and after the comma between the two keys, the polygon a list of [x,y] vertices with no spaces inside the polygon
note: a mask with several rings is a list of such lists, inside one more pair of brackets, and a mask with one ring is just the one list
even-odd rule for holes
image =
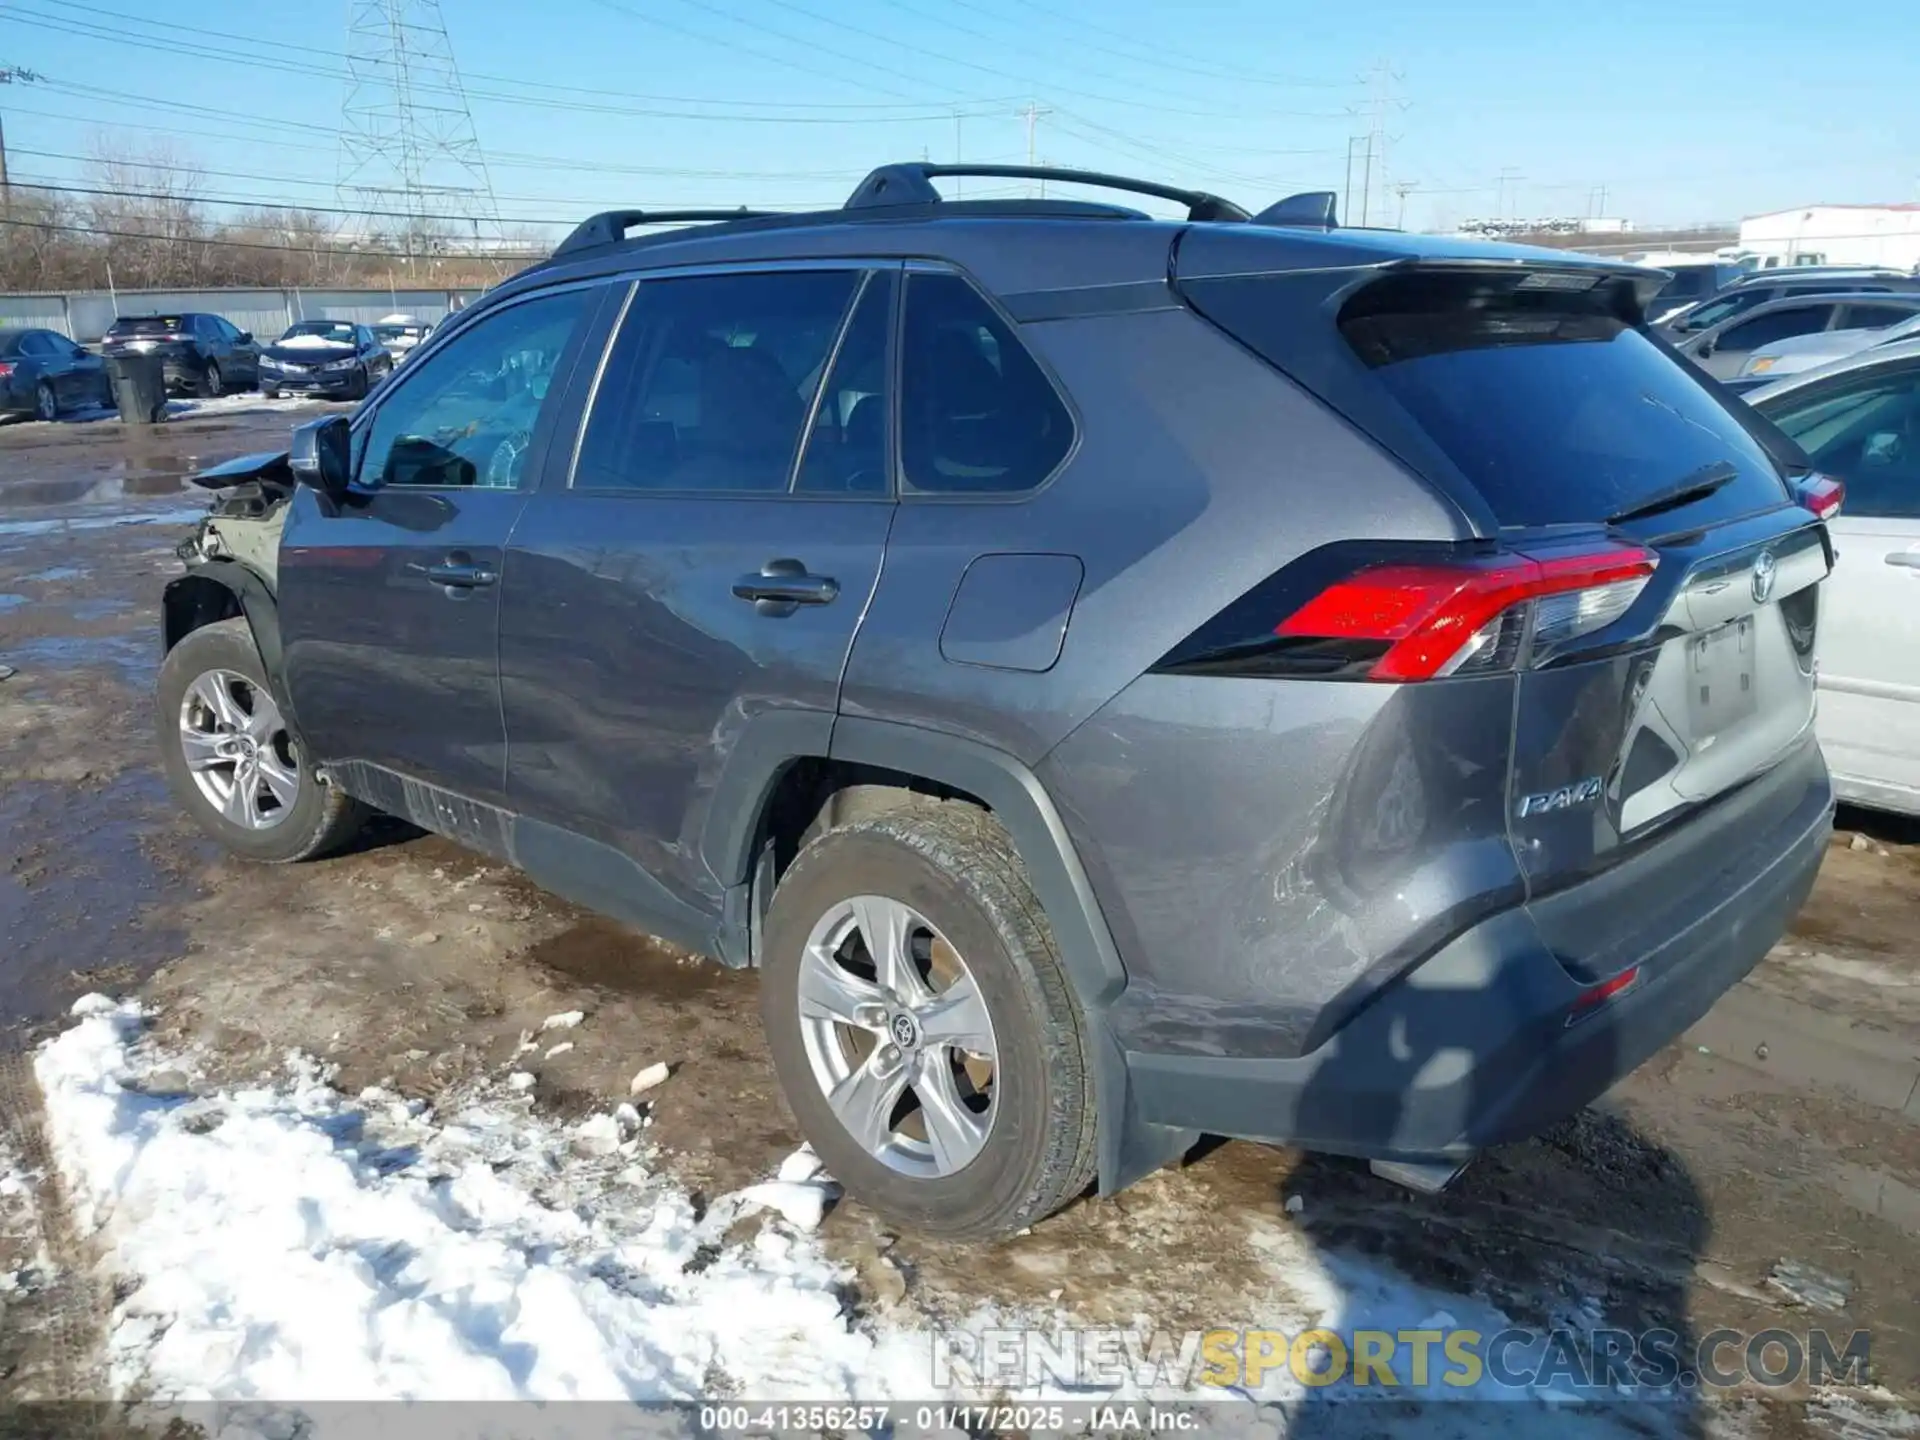
{"label": "large white snow patch on the ground at bottom left", "polygon": [[[136,1283],[117,1394],[157,1402],[922,1394],[927,1348],[852,1329],[845,1273],[714,1213],[612,1140],[486,1098],[447,1123],[342,1096],[315,1062],[154,1096],[136,1004],[90,996],[35,1058],[83,1229]],[[397,1096],[388,1096],[397,1100]],[[722,1198],[726,1200],[726,1198]]]}

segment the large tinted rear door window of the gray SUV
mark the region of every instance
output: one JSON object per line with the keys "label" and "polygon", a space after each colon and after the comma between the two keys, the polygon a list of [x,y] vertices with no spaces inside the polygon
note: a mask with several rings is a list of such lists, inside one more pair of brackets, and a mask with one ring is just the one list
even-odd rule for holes
{"label": "large tinted rear door window of the gray SUV", "polygon": [[576,490],[783,492],[858,271],[641,280]]}

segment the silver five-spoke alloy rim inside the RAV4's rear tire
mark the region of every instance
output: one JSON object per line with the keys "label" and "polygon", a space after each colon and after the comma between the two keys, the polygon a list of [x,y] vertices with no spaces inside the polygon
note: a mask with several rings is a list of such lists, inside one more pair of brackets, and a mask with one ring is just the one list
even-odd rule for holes
{"label": "silver five-spoke alloy rim inside the RAV4's rear tire", "polygon": [[987,1142],[993,1018],[960,952],[899,900],[841,900],[808,935],[801,1039],[847,1133],[891,1169],[941,1179]]}

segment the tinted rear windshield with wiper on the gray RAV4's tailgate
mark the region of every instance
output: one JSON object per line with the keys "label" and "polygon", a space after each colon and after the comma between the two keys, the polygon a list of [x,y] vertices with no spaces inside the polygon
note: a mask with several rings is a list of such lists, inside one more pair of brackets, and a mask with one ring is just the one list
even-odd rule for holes
{"label": "tinted rear windshield with wiper on the gray RAV4's tailgate", "polygon": [[1605,520],[1718,463],[1740,478],[1716,513],[1786,497],[1753,434],[1605,290],[1398,276],[1340,330],[1501,524]]}

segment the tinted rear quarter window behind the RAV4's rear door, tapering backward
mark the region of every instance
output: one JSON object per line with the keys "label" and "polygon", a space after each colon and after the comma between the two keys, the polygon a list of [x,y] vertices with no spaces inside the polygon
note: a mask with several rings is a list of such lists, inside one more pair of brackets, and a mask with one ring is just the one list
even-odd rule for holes
{"label": "tinted rear quarter window behind the RAV4's rear door, tapering backward", "polygon": [[958,275],[912,275],[900,470],[927,495],[1018,493],[1073,447],[1073,417],[1027,348]]}

